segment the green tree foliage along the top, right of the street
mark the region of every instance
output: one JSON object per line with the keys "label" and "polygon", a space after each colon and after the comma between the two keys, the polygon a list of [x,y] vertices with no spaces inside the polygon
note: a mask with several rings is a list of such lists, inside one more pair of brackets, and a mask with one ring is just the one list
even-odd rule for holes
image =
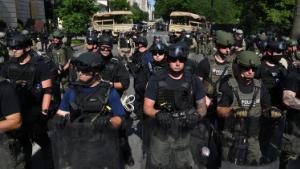
{"label": "green tree foliage along the top, right of the street", "polygon": [[280,28],[288,32],[293,24],[296,0],[156,0],[156,18],[169,19],[172,11],[206,16],[211,22],[239,24],[248,32],[257,28]]}

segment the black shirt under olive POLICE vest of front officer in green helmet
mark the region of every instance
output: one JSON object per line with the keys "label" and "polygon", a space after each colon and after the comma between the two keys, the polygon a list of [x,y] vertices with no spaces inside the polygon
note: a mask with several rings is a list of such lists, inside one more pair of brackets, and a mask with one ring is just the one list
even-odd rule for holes
{"label": "black shirt under olive POLICE vest of front officer in green helmet", "polygon": [[[253,92],[254,83],[252,83],[250,85],[246,85],[245,83],[238,81],[238,85],[239,85],[239,89],[243,93],[252,93]],[[220,102],[218,103],[218,106],[230,107],[231,104],[233,103],[234,94],[233,94],[231,87],[228,84],[228,80],[221,84],[220,92],[222,93],[222,97],[221,97]],[[261,100],[262,109],[266,109],[271,106],[270,95],[264,86],[261,87],[260,100]]]}

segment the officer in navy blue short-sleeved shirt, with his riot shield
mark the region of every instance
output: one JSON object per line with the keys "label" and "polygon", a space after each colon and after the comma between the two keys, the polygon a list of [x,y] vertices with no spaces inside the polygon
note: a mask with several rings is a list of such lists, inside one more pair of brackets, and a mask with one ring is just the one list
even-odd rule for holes
{"label": "officer in navy blue short-sleeved shirt, with his riot shield", "polygon": [[79,80],[66,91],[57,112],[62,127],[57,131],[65,138],[53,137],[58,146],[57,167],[123,168],[117,129],[125,112],[116,89],[101,80],[104,61],[87,52],[76,58],[74,65]]}

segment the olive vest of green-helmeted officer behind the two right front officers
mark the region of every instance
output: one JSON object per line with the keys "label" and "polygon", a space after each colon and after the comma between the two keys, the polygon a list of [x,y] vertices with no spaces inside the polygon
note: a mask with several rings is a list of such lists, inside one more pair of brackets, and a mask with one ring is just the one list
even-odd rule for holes
{"label": "olive vest of green-helmeted officer behind the two right front officers", "polygon": [[226,64],[217,64],[215,55],[209,56],[208,60],[210,63],[209,79],[204,79],[205,91],[208,96],[212,97],[219,91],[219,85],[222,78],[232,76],[232,62]]}

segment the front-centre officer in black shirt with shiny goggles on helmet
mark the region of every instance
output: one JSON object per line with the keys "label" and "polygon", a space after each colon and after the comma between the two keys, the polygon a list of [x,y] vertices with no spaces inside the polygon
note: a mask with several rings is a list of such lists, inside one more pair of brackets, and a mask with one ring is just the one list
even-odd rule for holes
{"label": "front-centre officer in black shirt with shiny goggles on helmet", "polygon": [[144,101],[151,129],[147,167],[151,169],[196,168],[190,151],[190,132],[206,114],[204,89],[196,76],[184,71],[187,50],[168,49],[168,71],[151,77]]}

